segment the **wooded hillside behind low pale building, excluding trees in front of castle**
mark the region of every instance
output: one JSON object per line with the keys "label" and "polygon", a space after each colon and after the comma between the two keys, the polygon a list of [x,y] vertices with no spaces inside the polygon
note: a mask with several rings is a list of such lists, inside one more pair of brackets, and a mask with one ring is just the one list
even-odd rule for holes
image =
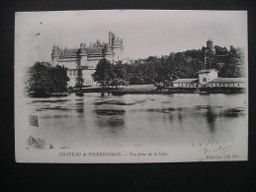
{"label": "wooded hillside behind low pale building, excluding trees in front of castle", "polygon": [[[207,52],[206,67],[219,71],[219,77],[244,77],[244,55],[240,48],[215,46],[215,54]],[[129,84],[172,82],[179,78],[197,78],[205,68],[205,47],[199,50],[170,53],[125,64]]]}

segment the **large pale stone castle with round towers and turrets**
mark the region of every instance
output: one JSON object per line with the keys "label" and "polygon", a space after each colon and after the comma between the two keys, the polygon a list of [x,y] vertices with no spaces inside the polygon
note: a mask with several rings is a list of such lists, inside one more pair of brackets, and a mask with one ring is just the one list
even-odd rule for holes
{"label": "large pale stone castle with round towers and turrets", "polygon": [[82,69],[84,85],[95,86],[92,74],[95,72],[99,60],[104,57],[113,64],[123,59],[124,45],[123,38],[113,32],[109,32],[109,43],[97,40],[86,46],[80,44],[80,48],[64,48],[53,46],[51,58],[53,65],[63,65],[67,68],[67,75],[70,79],[68,86],[75,86],[75,79],[78,69]]}

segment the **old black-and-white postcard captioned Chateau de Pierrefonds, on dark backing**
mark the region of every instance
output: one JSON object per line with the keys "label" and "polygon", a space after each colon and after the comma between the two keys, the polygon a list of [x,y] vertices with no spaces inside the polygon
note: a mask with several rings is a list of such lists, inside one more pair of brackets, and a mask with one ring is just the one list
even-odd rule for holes
{"label": "old black-and-white postcard captioned Chateau de Pierrefonds, on dark backing", "polygon": [[16,12],[17,162],[248,159],[246,11]]}

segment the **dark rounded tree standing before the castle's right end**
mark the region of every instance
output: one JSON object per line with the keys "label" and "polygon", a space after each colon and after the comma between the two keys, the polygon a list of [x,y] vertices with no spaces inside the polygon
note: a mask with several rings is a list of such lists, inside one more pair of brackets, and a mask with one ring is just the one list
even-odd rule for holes
{"label": "dark rounded tree standing before the castle's right end", "polygon": [[108,86],[109,88],[109,85],[115,79],[113,64],[111,64],[106,58],[101,59],[92,76],[94,81],[98,82],[101,86]]}

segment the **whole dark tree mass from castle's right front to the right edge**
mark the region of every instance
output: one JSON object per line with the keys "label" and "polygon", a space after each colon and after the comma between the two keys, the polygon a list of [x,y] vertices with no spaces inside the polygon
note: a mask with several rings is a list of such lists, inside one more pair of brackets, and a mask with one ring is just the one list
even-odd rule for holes
{"label": "whole dark tree mass from castle's right front to the right edge", "polygon": [[205,68],[216,69],[219,77],[244,77],[244,53],[241,48],[214,46],[214,53],[202,49],[186,50],[169,55],[149,56],[130,63],[112,65],[107,59],[99,62],[93,78],[103,87],[110,85],[157,84],[171,86],[179,78],[198,78],[197,72]]}

